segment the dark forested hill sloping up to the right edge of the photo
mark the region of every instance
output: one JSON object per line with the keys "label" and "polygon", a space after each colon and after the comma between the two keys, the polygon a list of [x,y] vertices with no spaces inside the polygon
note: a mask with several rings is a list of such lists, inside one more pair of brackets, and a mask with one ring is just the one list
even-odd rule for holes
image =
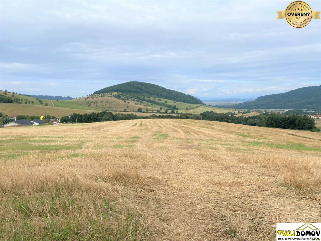
{"label": "dark forested hill sloping up to the right edge of the photo", "polygon": [[239,109],[321,109],[321,85],[303,87],[282,94],[260,96],[233,106]]}

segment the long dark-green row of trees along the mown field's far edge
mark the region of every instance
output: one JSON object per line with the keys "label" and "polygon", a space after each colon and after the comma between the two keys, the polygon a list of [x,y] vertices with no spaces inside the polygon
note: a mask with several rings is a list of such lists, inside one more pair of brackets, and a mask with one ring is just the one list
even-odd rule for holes
{"label": "long dark-green row of trees along the mown field's far edge", "polygon": [[296,130],[313,130],[319,131],[315,127],[315,121],[312,118],[301,115],[281,115],[281,114],[260,114],[255,116],[234,116],[232,113],[216,113],[216,112],[203,112],[200,115],[151,115],[151,116],[138,116],[135,114],[113,114],[112,112],[98,112],[90,114],[74,113],[70,116],[64,116],[60,119],[65,123],[88,123],[100,121],[120,121],[120,120],[134,120],[134,119],[194,119],[206,121],[221,121],[249,126],[261,127],[274,127],[282,129],[296,129]]}

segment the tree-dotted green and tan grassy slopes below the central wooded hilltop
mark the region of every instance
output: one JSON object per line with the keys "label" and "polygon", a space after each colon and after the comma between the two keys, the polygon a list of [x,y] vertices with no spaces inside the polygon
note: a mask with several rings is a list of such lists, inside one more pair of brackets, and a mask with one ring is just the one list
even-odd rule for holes
{"label": "tree-dotted green and tan grassy slopes below the central wooded hilltop", "polygon": [[[116,97],[115,97],[116,96]],[[4,103],[1,103],[4,102]],[[200,114],[204,111],[213,111],[218,113],[230,112],[229,109],[216,108],[207,105],[189,104],[179,101],[172,101],[164,98],[157,98],[157,103],[166,104],[168,106],[176,106],[179,113]],[[118,95],[117,93],[92,94],[82,98],[76,98],[69,101],[56,101],[31,96],[12,94],[10,92],[4,94],[0,91],[0,112],[6,115],[51,115],[62,117],[72,113],[91,113],[100,111],[135,112],[139,115],[151,115],[152,113],[165,113],[168,107],[150,103],[137,98],[128,98]],[[143,113],[138,112],[142,109]],[[169,114],[171,111],[167,111]]]}

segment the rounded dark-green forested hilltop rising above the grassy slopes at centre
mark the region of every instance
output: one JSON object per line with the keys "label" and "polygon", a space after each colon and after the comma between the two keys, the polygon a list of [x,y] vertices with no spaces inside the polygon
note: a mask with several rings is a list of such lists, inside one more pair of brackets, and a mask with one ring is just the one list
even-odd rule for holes
{"label": "rounded dark-green forested hilltop rising above the grassy slopes at centre", "polygon": [[175,90],[166,89],[159,85],[153,85],[144,82],[131,81],[119,85],[113,85],[101,90],[95,91],[93,94],[102,94],[110,92],[122,92],[125,94],[146,95],[158,98],[165,98],[173,101],[181,101],[191,104],[203,104],[203,102],[196,97],[178,92]]}

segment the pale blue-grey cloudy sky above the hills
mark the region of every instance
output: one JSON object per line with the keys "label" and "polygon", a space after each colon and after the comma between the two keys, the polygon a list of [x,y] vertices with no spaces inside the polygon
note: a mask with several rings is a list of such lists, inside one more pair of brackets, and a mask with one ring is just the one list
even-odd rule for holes
{"label": "pale blue-grey cloudy sky above the hills", "polygon": [[[201,99],[321,84],[321,21],[291,1],[0,1],[0,90],[78,97],[143,81]],[[321,1],[308,1],[321,11]]]}

